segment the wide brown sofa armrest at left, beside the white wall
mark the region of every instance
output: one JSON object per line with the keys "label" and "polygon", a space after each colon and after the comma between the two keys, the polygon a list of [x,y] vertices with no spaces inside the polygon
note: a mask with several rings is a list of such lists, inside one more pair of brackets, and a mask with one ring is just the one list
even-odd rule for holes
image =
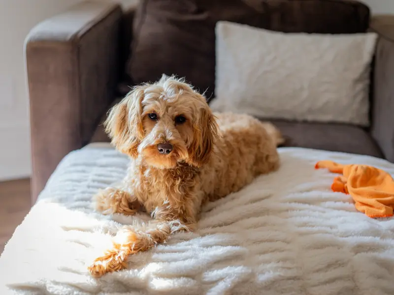
{"label": "wide brown sofa armrest at left, beside the white wall", "polygon": [[27,36],[33,203],[61,159],[88,143],[114,98],[121,20],[118,4],[86,1]]}

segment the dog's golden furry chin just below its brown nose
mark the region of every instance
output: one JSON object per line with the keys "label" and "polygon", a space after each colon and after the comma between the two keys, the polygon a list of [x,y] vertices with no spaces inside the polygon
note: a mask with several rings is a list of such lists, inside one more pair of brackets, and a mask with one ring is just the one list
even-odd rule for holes
{"label": "dog's golden furry chin just below its brown nose", "polygon": [[179,148],[174,148],[168,155],[161,154],[156,146],[145,148],[142,151],[142,155],[146,164],[158,169],[175,168],[179,162],[184,161],[187,157],[185,151]]}

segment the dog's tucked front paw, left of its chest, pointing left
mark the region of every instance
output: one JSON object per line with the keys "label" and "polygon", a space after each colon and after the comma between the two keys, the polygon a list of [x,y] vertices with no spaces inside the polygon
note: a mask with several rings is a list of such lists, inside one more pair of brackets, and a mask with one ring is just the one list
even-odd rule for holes
{"label": "dog's tucked front paw, left of its chest, pointing left", "polygon": [[137,199],[126,190],[108,187],[94,196],[96,210],[105,214],[132,215],[141,207]]}

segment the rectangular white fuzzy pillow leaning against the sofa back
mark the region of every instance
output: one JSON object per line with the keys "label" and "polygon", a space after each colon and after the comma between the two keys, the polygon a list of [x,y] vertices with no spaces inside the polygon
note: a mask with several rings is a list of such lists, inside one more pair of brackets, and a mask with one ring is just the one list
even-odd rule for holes
{"label": "rectangular white fuzzy pillow leaning against the sofa back", "polygon": [[282,33],[216,25],[218,112],[369,125],[377,34]]}

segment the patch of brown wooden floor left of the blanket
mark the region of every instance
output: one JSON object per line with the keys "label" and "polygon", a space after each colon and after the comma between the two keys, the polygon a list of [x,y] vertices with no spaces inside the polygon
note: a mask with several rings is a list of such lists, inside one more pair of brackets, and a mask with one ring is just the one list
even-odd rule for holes
{"label": "patch of brown wooden floor left of the blanket", "polygon": [[0,253],[30,210],[30,179],[0,182]]}

